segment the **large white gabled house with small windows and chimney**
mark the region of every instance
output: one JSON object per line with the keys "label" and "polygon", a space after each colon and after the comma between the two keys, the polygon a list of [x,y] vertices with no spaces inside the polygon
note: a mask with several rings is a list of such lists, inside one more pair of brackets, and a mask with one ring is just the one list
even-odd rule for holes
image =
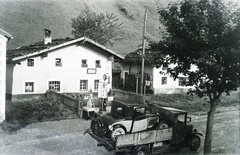
{"label": "large white gabled house with small windows and chimney", "polygon": [[85,37],[9,50],[7,58],[7,94],[11,100],[38,98],[47,90],[97,93],[103,74],[107,74],[111,89],[112,61],[123,60],[123,56]]}

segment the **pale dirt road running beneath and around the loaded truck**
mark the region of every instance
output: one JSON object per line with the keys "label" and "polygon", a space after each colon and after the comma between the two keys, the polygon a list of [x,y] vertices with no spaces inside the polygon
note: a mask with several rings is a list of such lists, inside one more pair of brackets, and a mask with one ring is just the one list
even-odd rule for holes
{"label": "pale dirt road running beneath and around the loaded truck", "polygon": [[[192,115],[192,124],[205,134],[206,115]],[[83,132],[90,121],[72,119],[43,122],[28,125],[14,134],[0,131],[1,155],[112,155]],[[224,112],[215,115],[212,152],[216,154],[240,154],[239,146],[239,112]],[[182,149],[178,154],[202,154]]]}

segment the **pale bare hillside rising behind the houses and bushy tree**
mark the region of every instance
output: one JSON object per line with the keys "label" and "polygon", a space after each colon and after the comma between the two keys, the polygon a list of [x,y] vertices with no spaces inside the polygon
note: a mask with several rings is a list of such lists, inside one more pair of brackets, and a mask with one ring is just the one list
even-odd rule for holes
{"label": "pale bare hillside rising behind the houses and bushy tree", "polygon": [[[166,4],[167,0],[161,0]],[[147,14],[147,35],[160,38],[156,0],[1,0],[0,28],[13,35],[8,48],[43,40],[43,29],[52,31],[52,38],[73,37],[71,19],[88,6],[97,13],[114,13],[123,22],[120,39],[113,47],[119,54],[132,52],[142,43],[144,10]]]}

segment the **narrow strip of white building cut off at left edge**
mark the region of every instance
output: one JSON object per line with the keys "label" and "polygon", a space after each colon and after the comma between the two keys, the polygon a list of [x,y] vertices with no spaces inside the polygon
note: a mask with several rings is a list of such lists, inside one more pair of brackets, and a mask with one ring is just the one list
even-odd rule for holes
{"label": "narrow strip of white building cut off at left edge", "polygon": [[12,36],[0,29],[0,122],[5,120],[5,104],[6,104],[6,47],[7,41]]}

